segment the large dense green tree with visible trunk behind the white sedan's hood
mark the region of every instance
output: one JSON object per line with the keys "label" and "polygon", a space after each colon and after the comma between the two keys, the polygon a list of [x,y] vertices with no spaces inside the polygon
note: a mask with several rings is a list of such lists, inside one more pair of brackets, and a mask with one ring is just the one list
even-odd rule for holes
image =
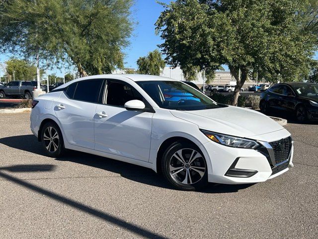
{"label": "large dense green tree with visible trunk behind the white sedan's hood", "polygon": [[[163,4],[156,32],[173,66],[212,72],[225,64],[237,81],[232,104],[250,71],[268,81],[294,81],[309,72],[316,38],[300,31],[306,1],[176,0]],[[239,78],[239,70],[241,72]]]}

